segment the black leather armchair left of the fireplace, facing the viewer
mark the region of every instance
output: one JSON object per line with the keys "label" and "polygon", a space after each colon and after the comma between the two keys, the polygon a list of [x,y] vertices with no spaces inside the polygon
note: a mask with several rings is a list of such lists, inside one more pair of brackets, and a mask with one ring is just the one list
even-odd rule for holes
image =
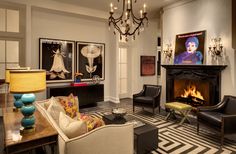
{"label": "black leather armchair left of the fireplace, facing the viewer", "polygon": [[155,108],[159,107],[160,113],[161,86],[144,84],[143,89],[138,94],[133,95],[133,112],[135,106],[152,108],[155,114]]}

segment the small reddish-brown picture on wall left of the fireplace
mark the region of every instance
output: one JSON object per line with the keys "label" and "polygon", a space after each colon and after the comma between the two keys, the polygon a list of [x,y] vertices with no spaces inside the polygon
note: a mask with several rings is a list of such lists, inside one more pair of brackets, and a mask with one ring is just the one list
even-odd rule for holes
{"label": "small reddish-brown picture on wall left of the fireplace", "polygon": [[155,56],[141,56],[140,57],[140,72],[141,76],[153,76],[155,75]]}

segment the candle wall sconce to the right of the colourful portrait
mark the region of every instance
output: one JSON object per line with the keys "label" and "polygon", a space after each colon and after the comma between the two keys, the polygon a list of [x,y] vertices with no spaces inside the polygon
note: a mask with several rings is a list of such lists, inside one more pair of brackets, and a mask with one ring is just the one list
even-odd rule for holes
{"label": "candle wall sconce to the right of the colourful portrait", "polygon": [[212,38],[209,46],[209,53],[215,59],[223,56],[223,45],[221,43],[221,38]]}

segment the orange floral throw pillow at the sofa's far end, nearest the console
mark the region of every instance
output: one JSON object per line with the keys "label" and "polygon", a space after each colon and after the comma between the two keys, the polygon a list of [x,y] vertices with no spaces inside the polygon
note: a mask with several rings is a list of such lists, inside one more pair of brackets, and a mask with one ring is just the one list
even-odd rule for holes
{"label": "orange floral throw pillow at the sofa's far end, nearest the console", "polygon": [[59,102],[64,107],[66,115],[70,116],[71,118],[77,116],[78,103],[76,101],[78,101],[78,98],[77,96],[73,96],[73,94],[70,94],[68,97],[59,97]]}

